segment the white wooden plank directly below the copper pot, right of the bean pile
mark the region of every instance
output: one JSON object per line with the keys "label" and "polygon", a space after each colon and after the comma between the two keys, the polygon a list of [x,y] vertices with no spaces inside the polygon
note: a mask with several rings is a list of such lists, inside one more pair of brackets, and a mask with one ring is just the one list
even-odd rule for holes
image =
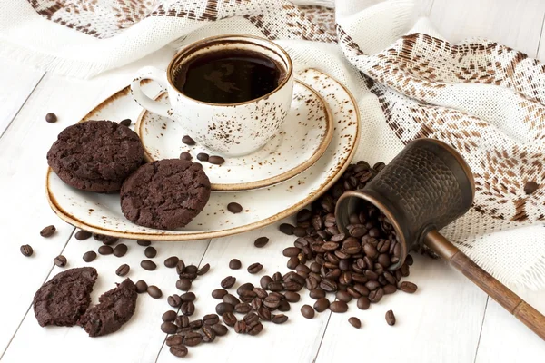
{"label": "white wooden plank directly below the copper pot, right of the bean pile", "polygon": [[[418,285],[416,293],[398,291],[365,311],[351,301],[347,313],[332,314],[316,362],[350,361],[355,353],[347,347],[363,345],[367,361],[471,362],[487,296],[443,261],[420,255],[405,280]],[[390,309],[393,327],[384,319]],[[352,316],[361,329],[348,323]]]}

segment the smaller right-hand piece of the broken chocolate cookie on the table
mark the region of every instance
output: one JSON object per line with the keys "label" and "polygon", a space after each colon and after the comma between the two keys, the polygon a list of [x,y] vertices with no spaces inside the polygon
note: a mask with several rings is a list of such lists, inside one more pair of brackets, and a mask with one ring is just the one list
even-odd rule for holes
{"label": "smaller right-hand piece of the broken chocolate cookie on the table", "polygon": [[130,279],[118,284],[115,289],[104,292],[98,305],[87,309],[78,324],[89,337],[100,337],[113,333],[129,321],[136,307],[136,286]]}

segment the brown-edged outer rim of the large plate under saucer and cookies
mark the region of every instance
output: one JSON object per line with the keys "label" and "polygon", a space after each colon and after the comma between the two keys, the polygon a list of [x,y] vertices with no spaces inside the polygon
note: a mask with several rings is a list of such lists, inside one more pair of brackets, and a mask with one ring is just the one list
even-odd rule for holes
{"label": "brown-edged outer rim of the large plate under saucer and cookies", "polygon": [[[276,221],[280,221],[283,218],[291,216],[294,212],[300,211],[305,205],[312,203],[312,201],[316,201],[326,190],[331,188],[332,185],[341,178],[342,172],[344,172],[348,168],[357,150],[358,142],[360,141],[360,131],[362,126],[360,109],[358,107],[358,103],[356,102],[354,96],[352,95],[352,92],[350,92],[350,90],[344,84],[337,81],[337,79],[332,77],[330,74],[326,74],[315,68],[307,68],[307,70],[309,69],[312,69],[313,71],[316,71],[320,74],[325,74],[326,76],[330,77],[334,82],[338,83],[342,87],[342,89],[348,94],[352,103],[354,104],[354,111],[355,111],[355,117],[356,117],[356,134],[354,137],[354,142],[352,144],[352,149],[349,152],[348,156],[346,157],[346,161],[340,167],[337,167],[338,170],[332,174],[332,177],[329,178],[329,180],[325,181],[318,190],[313,191],[312,193],[307,195],[306,198],[304,198],[302,201],[299,201],[298,203],[293,204],[289,208],[286,208],[285,210],[280,211],[272,215],[271,217],[268,217],[261,221],[255,221],[253,223],[245,224],[243,226],[233,227],[233,228],[225,229],[221,231],[195,231],[195,232],[188,232],[188,233],[181,233],[181,234],[173,234],[170,231],[161,231],[161,230],[156,230],[151,232],[138,232],[138,233],[109,230],[103,227],[95,227],[95,226],[89,225],[85,223],[84,221],[79,221],[73,218],[73,216],[68,214],[66,211],[64,211],[61,207],[59,207],[56,204],[54,196],[51,194],[51,191],[49,188],[50,175],[51,175],[51,172],[53,172],[53,170],[50,167],[48,167],[46,176],[45,176],[45,193],[47,196],[47,201],[49,203],[49,206],[55,212],[55,214],[57,214],[57,216],[59,216],[63,221],[66,221],[67,223],[72,224],[76,228],[80,228],[84,231],[105,234],[108,236],[124,238],[128,240],[165,240],[165,241],[207,240],[207,239],[231,236],[233,234],[238,234],[245,231],[253,231],[258,228],[263,228],[265,226],[268,226]],[[111,96],[106,98],[104,101],[94,106],[94,108],[89,113],[86,113],[85,117],[88,116],[90,113],[93,113],[94,110],[99,108],[101,104],[106,102],[111,102],[111,100],[118,97],[120,93],[129,92],[129,91],[130,91],[130,86],[126,86],[123,89],[119,90],[118,92],[112,94]],[[79,122],[82,122],[82,121],[84,121],[84,119],[80,120]]]}

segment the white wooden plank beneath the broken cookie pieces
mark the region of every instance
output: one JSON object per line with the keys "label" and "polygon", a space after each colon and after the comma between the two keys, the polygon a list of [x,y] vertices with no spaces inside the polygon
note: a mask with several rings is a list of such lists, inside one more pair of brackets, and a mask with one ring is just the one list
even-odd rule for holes
{"label": "white wooden plank beneath the broken cookie pieces", "polygon": [[[54,274],[67,268],[93,266],[98,270],[98,280],[94,285],[93,303],[98,302],[98,297],[108,289],[115,287],[124,278],[115,275],[115,270],[123,263],[127,263],[131,270],[126,276],[134,282],[145,280],[148,285],[155,285],[163,290],[161,299],[152,299],[147,293],[139,295],[134,316],[122,329],[111,336],[104,338],[89,338],[84,329],[79,327],[46,327],[38,325],[34,310],[26,314],[15,338],[5,352],[2,362],[33,362],[52,360],[62,354],[64,357],[77,357],[78,362],[153,362],[159,349],[163,345],[164,333],[161,331],[161,316],[170,306],[166,302],[168,295],[180,292],[175,288],[178,275],[175,269],[167,269],[163,261],[170,256],[179,256],[186,264],[198,265],[203,258],[204,251],[209,240],[190,242],[154,242],[157,250],[154,262],[157,269],[144,270],[140,267],[140,261],[146,259],[145,247],[139,246],[134,240],[120,240],[127,244],[129,250],[124,257],[114,255],[101,256],[91,263],[85,263],[82,259],[87,250],[97,250],[101,245],[94,239],[75,240],[73,237],[63,255],[68,260],[65,268],[55,267]],[[206,276],[195,280],[206,280]],[[198,281],[198,282],[197,282]],[[32,339],[32,348],[28,341]],[[82,354],[83,353],[83,354]],[[70,359],[69,359],[70,360]]]}

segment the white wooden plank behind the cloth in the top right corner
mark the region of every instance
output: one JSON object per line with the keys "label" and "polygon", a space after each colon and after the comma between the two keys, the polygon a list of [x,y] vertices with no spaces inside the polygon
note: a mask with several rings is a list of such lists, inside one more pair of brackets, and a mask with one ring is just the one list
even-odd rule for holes
{"label": "white wooden plank behind the cloth in the top right corner", "polygon": [[451,42],[483,37],[535,57],[544,14],[541,0],[435,0],[430,16],[439,33]]}

